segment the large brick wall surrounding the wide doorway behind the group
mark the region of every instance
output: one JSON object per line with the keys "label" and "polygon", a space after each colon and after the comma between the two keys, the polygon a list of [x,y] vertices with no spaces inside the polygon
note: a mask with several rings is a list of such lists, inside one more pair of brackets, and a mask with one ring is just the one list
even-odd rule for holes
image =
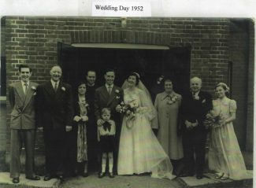
{"label": "large brick wall surrounding the wide doorway behind the group", "polygon": [[128,18],[123,27],[114,17],[6,17],[7,84],[18,80],[21,63],[34,68],[32,81],[49,80],[58,42],[121,42],[190,46],[191,76],[202,77],[204,90],[213,94],[216,83],[228,81],[229,25],[224,18]]}

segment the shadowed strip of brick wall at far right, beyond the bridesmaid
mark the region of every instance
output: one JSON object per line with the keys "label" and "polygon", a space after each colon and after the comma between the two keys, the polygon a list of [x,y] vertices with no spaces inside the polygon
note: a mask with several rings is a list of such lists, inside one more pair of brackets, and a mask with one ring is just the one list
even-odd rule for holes
{"label": "shadowed strip of brick wall at far right, beyond the bridesmaid", "polygon": [[232,70],[232,99],[236,100],[237,112],[234,128],[240,146],[245,146],[247,131],[247,71],[248,71],[248,33],[247,22],[232,20],[229,40]]}

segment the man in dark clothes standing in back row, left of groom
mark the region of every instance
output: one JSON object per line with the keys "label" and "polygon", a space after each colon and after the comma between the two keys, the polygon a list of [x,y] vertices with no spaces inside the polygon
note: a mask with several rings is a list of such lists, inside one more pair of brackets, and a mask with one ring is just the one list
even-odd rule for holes
{"label": "man in dark clothes standing in back row, left of groom", "polygon": [[88,170],[98,171],[98,140],[97,140],[97,123],[95,120],[95,90],[98,88],[95,84],[96,72],[87,71],[86,76],[86,98],[90,110],[88,111],[87,124],[87,148],[88,148]]}

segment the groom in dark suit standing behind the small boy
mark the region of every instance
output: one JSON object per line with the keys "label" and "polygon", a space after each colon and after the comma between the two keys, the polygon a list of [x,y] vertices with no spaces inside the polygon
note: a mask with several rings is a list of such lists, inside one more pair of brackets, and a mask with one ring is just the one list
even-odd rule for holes
{"label": "groom in dark suit standing behind the small boy", "polygon": [[113,171],[117,174],[117,154],[119,149],[119,138],[121,133],[121,114],[117,112],[117,105],[120,105],[124,98],[124,92],[120,87],[113,84],[115,72],[113,69],[107,69],[104,75],[105,85],[95,90],[95,116],[97,124],[102,124],[101,110],[109,108],[111,111],[111,120],[116,123],[115,150],[113,153]]}

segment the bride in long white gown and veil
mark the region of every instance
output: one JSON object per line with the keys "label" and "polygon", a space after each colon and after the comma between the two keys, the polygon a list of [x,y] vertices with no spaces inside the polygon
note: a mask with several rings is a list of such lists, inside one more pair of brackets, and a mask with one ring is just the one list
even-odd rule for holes
{"label": "bride in long white gown and veil", "polygon": [[[117,161],[118,175],[152,172],[151,177],[173,179],[173,166],[151,130],[156,116],[150,94],[132,72],[124,82],[124,104],[135,107],[133,116],[124,116]],[[119,106],[121,107],[121,106]]]}

